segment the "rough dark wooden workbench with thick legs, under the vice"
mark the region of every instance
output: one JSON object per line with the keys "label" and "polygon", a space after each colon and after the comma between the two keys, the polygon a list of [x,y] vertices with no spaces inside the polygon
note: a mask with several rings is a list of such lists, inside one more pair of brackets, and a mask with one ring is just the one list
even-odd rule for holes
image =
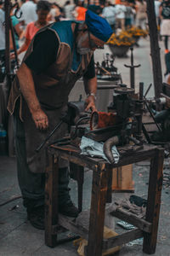
{"label": "rough dark wooden workbench with thick legs, under the vice", "polygon": [[[123,148],[122,148],[123,149]],[[121,148],[119,148],[121,152]],[[82,227],[77,219],[67,218],[58,214],[58,158],[93,170],[93,184],[89,228]],[[133,224],[137,229],[122,235],[103,240],[105,222],[105,203],[111,202],[112,168],[126,166],[142,160],[150,160],[150,177],[145,219],[134,214],[116,210],[111,212],[122,220]],[[144,148],[134,147],[133,152],[121,154],[116,165],[110,165],[105,160],[94,159],[80,154],[80,149],[68,146],[51,146],[48,148],[48,167],[46,170],[46,208],[45,208],[45,243],[49,247],[57,244],[57,234],[62,226],[71,232],[88,240],[87,256],[101,256],[102,249],[108,249],[144,237],[144,253],[155,253],[156,239],[161,206],[161,186],[164,151],[153,145]]]}

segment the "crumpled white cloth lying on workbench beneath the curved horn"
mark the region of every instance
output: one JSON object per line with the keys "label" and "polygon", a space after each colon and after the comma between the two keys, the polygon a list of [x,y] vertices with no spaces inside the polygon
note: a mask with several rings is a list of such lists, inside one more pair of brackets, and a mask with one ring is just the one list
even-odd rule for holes
{"label": "crumpled white cloth lying on workbench beneath the curved horn", "polygon": [[[80,148],[82,149],[82,153],[84,155],[90,155],[91,157],[101,157],[105,160],[109,160],[106,158],[104,154],[104,143],[97,143],[94,140],[88,138],[88,137],[82,137]],[[116,146],[113,146],[111,148],[115,163],[118,163],[119,161],[119,153],[116,150]]]}

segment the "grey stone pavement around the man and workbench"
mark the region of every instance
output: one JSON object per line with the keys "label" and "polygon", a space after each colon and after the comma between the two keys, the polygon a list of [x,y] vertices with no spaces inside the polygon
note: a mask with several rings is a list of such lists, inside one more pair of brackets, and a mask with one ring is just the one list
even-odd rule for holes
{"label": "grey stone pavement around the man and workbench", "polygon": [[[150,42],[149,39],[140,39],[139,48],[134,49],[134,64],[141,64],[141,67],[136,71],[136,84],[144,82],[144,90],[152,83],[151,61],[150,61]],[[95,53],[95,61],[100,60],[105,50]],[[128,53],[129,55],[129,53]],[[161,61],[162,73],[165,72],[164,67],[163,46],[161,43]],[[124,67],[124,64],[129,64],[130,58],[116,58],[115,66],[122,73],[123,83],[129,84],[129,70]],[[153,96],[153,87],[150,90],[150,96]],[[80,92],[81,93],[81,92]],[[106,102],[107,103],[107,102]],[[135,184],[135,195],[140,195],[146,198],[148,186],[148,170],[149,163],[141,162],[133,165],[133,180]],[[169,159],[165,160],[164,172],[169,174]],[[85,172],[85,180],[83,185],[83,210],[88,209],[90,205],[91,195],[91,180],[92,172]],[[71,180],[71,197],[77,204],[77,183]],[[170,189],[162,189],[161,195],[161,215],[158,232],[158,241],[156,247],[156,256],[170,256],[170,212],[169,212],[169,195]],[[65,255],[76,256],[77,248],[72,242],[60,244],[58,247],[50,248],[44,245],[44,232],[34,229],[26,220],[26,210],[22,206],[22,200],[8,202],[14,196],[20,197],[20,189],[17,182],[16,160],[7,156],[0,156],[0,256],[53,256]],[[113,196],[120,196],[116,194]],[[123,194],[124,197],[129,197],[129,194]],[[117,220],[116,220],[117,222]],[[122,232],[117,224],[115,224],[116,232]],[[141,241],[137,244],[129,243],[123,246],[119,253],[114,255],[134,256],[147,255],[142,252]]]}

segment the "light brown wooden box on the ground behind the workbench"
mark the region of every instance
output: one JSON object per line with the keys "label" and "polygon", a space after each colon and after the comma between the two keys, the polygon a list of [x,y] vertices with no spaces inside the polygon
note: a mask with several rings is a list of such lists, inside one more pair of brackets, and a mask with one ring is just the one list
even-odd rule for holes
{"label": "light brown wooden box on the ground behind the workbench", "polygon": [[112,190],[134,192],[133,165],[113,168]]}

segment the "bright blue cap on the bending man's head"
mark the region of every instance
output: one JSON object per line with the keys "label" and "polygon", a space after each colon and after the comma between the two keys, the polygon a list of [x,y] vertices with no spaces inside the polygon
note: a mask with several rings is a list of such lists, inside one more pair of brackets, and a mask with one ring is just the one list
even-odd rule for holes
{"label": "bright blue cap on the bending man's head", "polygon": [[113,33],[111,26],[104,18],[94,14],[91,10],[87,10],[85,22],[88,26],[89,31],[94,37],[107,42]]}

